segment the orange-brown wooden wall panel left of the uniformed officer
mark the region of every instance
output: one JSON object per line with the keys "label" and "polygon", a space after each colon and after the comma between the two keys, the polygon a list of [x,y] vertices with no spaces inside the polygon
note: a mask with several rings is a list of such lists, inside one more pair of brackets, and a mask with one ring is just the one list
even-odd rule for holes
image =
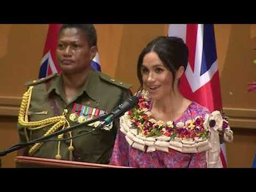
{"label": "orange-brown wooden wall panel left of the uniformed officer", "polygon": [[[7,30],[8,29],[8,30]],[[23,84],[37,78],[47,25],[0,25],[0,96],[21,96]]]}

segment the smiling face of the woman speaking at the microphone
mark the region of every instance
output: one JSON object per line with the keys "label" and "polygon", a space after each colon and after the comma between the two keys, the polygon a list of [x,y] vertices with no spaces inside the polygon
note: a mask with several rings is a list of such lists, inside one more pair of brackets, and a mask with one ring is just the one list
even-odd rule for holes
{"label": "smiling face of the woman speaking at the microphone", "polygon": [[164,66],[156,52],[145,54],[142,61],[143,86],[153,100],[161,100],[172,92],[172,72]]}

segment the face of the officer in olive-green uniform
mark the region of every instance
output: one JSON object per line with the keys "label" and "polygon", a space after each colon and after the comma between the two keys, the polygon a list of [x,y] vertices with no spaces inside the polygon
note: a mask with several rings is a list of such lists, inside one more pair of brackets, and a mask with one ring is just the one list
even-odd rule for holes
{"label": "face of the officer in olive-green uniform", "polygon": [[96,47],[90,47],[84,32],[80,29],[67,28],[59,35],[56,53],[63,73],[73,74],[89,70],[90,62],[96,54]]}

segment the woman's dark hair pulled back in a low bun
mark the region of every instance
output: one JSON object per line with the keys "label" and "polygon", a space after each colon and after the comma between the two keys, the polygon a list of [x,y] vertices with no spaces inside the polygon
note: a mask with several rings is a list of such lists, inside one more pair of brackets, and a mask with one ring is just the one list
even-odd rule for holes
{"label": "woman's dark hair pulled back in a low bun", "polygon": [[179,37],[158,37],[153,41],[150,41],[150,43],[148,43],[148,45],[142,50],[138,58],[137,76],[140,80],[140,90],[143,89],[141,72],[143,58],[146,54],[152,51],[158,54],[158,57],[164,66],[172,72],[172,86],[174,86],[174,78],[178,68],[180,68],[180,66],[184,66],[186,69],[188,65],[187,45]]}

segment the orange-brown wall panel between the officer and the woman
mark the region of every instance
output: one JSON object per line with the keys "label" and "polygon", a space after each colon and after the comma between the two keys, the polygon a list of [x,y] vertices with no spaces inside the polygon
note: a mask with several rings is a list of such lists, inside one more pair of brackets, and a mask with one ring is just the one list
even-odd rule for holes
{"label": "orange-brown wall panel between the officer and the woman", "polygon": [[133,92],[140,86],[136,72],[140,52],[152,39],[165,34],[164,25],[124,25],[115,77],[132,84]]}

